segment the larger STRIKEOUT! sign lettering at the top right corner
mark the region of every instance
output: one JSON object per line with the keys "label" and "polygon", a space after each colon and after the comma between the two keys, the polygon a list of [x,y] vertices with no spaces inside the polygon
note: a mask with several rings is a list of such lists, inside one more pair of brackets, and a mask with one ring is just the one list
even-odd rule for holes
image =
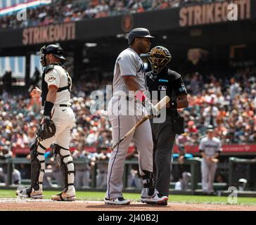
{"label": "larger STRIKEOUT! sign lettering at the top right corner", "polygon": [[229,4],[238,8],[238,20],[250,19],[251,0],[236,0],[188,6],[179,10],[179,25],[188,27],[210,23],[224,23],[229,20]]}

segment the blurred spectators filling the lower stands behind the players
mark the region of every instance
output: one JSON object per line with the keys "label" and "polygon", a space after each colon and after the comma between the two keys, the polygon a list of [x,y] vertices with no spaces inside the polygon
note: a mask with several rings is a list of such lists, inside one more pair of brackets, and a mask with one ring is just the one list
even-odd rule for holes
{"label": "blurred spectators filling the lower stands behind the players", "polygon": [[[212,124],[215,134],[222,143],[256,143],[256,68],[236,70],[231,76],[203,75],[193,72],[183,75],[188,89],[189,106],[179,110],[185,120],[185,134],[177,137],[177,146],[198,145],[205,135],[205,127]],[[111,146],[111,126],[106,108],[91,113],[91,105],[95,100],[90,98],[91,91],[106,90],[106,84],[112,79],[81,78],[72,85],[72,109],[76,115],[76,124],[72,129],[70,148],[75,148],[75,158],[87,158],[88,165],[77,168],[84,173],[79,177],[78,184],[87,187],[91,177],[88,175],[96,161],[109,158]],[[0,152],[7,147],[29,147],[36,136],[37,127],[41,122],[42,108],[40,98],[23,95],[13,96],[4,91],[0,95]],[[84,147],[96,148],[96,153],[87,153]],[[27,156],[29,157],[29,156]],[[51,158],[52,155],[49,156]],[[53,159],[52,159],[53,160]],[[58,169],[49,165],[46,177],[57,177]],[[97,186],[105,187],[107,164],[98,167]],[[85,171],[87,171],[85,173]],[[15,170],[17,173],[17,171]],[[29,177],[26,168],[20,168],[21,177]],[[57,175],[56,175],[57,174]],[[85,175],[87,174],[87,175]],[[13,174],[17,177],[17,174]],[[86,177],[84,177],[86,176]],[[131,185],[140,185],[136,169],[129,175]],[[136,179],[134,178],[136,177]],[[78,178],[77,178],[78,179]],[[134,179],[136,181],[134,181]],[[51,186],[51,182],[48,183]]]}

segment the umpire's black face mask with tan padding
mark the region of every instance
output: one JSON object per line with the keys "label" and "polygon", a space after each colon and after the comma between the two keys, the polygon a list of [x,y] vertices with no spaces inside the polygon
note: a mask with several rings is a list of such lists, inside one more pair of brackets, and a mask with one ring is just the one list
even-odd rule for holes
{"label": "umpire's black face mask with tan padding", "polygon": [[155,74],[161,72],[171,59],[172,56],[169,53],[169,50],[163,46],[155,46],[148,53],[148,60],[151,63],[151,68]]}

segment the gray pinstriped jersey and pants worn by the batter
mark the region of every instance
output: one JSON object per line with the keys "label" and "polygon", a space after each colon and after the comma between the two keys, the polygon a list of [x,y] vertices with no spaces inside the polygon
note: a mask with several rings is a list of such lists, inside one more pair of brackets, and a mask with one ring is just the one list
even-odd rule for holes
{"label": "gray pinstriped jersey and pants worn by the batter", "polygon": [[[108,105],[108,115],[113,127],[113,143],[141,120],[146,114],[141,103],[134,103],[134,96],[129,94],[124,76],[134,76],[139,89],[146,90],[146,74],[143,61],[133,49],[125,49],[115,62],[113,77],[113,97]],[[130,98],[127,99],[127,96]],[[110,156],[108,164],[108,189],[105,198],[122,198],[122,174],[124,160],[131,141],[134,141],[139,153],[139,168],[153,172],[153,140],[149,120],[141,124],[133,135],[130,135],[117,146]]]}

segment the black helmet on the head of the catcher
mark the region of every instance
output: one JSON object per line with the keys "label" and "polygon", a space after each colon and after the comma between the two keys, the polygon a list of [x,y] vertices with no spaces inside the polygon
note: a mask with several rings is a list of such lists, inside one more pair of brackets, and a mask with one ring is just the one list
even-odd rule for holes
{"label": "black helmet on the head of the catcher", "polygon": [[63,49],[56,44],[50,44],[49,46],[43,46],[40,49],[40,61],[42,66],[46,66],[46,54],[53,54],[53,56],[56,56],[61,60],[65,60],[65,58],[63,57]]}

